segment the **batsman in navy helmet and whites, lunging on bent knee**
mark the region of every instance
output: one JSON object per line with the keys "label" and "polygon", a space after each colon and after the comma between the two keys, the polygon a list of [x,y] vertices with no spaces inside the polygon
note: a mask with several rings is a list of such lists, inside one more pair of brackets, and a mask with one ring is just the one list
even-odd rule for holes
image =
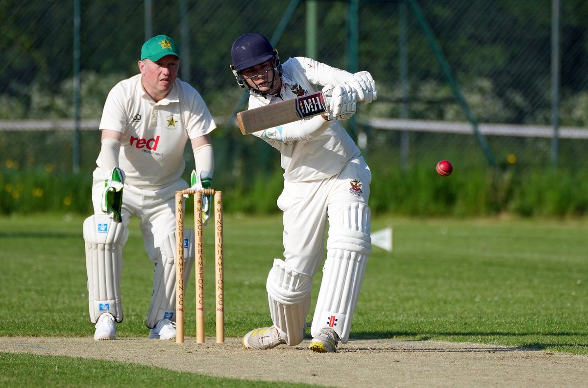
{"label": "batsman in navy helmet and whites, lunging on bent knee", "polygon": [[355,74],[310,58],[283,64],[266,37],[242,35],[232,46],[233,75],[249,92],[249,109],[323,91],[328,114],[267,128],[253,135],[280,151],[284,188],[284,258],[275,258],[266,281],[272,326],[249,331],[245,349],[295,346],[305,337],[312,277],[325,257],[309,349],[335,352],[346,343],[372,248],[369,184],[372,174],[342,120],[358,102],[377,98],[367,71]]}

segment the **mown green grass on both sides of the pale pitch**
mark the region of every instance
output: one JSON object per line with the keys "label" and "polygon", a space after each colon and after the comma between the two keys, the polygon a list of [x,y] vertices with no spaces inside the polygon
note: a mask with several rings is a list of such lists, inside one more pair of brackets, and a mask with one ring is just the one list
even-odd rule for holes
{"label": "mown green grass on both sides of the pale pitch", "polygon": [[[0,336],[92,336],[82,221],[58,214],[0,217]],[[372,250],[352,338],[463,341],[588,354],[588,220],[372,220],[372,231],[387,226],[393,227],[393,251]],[[265,280],[272,259],[282,254],[281,234],[279,216],[225,215],[226,336],[240,337],[270,324]],[[206,227],[205,285],[213,281],[212,238],[212,227]],[[146,337],[153,267],[143,253],[136,221],[123,254],[125,319],[117,336]],[[313,301],[319,282],[320,273]],[[193,284],[192,275],[188,306],[194,300]],[[213,306],[212,286],[206,293],[207,305]],[[206,335],[214,336],[210,307],[207,313]],[[188,308],[186,322],[193,320]],[[186,336],[195,336],[191,324],[186,324]],[[152,367],[135,372],[136,366],[124,363],[2,353],[0,386],[51,384],[56,380],[40,371],[55,363],[71,371],[59,380],[65,386],[92,385],[80,376],[108,375],[111,369],[128,377],[126,386],[164,381],[238,386],[233,380],[189,373],[170,377],[167,370]],[[116,379],[100,384],[123,385]]]}

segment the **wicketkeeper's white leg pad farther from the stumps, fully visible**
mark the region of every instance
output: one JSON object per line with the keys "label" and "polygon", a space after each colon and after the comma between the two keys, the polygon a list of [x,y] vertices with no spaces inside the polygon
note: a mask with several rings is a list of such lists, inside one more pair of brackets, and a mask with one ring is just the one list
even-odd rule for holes
{"label": "wicketkeeper's white leg pad farther from the stumps, fully visible", "polygon": [[83,221],[88,273],[90,321],[96,323],[103,313],[122,321],[121,273],[122,247],[129,230],[106,214],[95,214]]}

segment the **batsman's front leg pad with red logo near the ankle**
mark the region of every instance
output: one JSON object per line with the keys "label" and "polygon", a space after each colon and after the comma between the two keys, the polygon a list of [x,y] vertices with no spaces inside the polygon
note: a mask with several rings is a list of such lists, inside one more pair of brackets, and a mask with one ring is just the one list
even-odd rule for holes
{"label": "batsman's front leg pad with red logo near the ankle", "polygon": [[313,337],[320,329],[330,328],[347,343],[371,250],[369,207],[363,203],[343,206],[330,220],[323,280],[310,327]]}

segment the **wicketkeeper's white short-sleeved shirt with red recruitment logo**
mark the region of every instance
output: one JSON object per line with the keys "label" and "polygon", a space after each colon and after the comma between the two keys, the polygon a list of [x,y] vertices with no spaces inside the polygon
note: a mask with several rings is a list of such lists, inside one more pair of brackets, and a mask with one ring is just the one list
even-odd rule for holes
{"label": "wicketkeeper's white short-sleeved shirt with red recruitment logo", "polygon": [[[176,78],[166,98],[155,102],[141,86],[141,74],[111,89],[104,104],[101,130],[122,133],[119,167],[125,184],[156,190],[177,181],[186,167],[188,139],[216,128],[201,95]],[[96,160],[101,167],[101,157]]]}

